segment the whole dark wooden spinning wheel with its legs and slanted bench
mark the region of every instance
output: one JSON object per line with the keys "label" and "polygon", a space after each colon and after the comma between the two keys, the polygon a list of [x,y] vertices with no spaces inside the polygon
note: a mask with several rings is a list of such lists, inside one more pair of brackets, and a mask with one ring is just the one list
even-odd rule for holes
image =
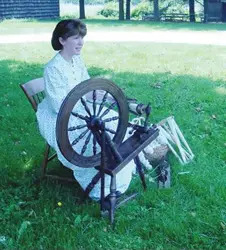
{"label": "whole dark wooden spinning wheel with its legs and slanted bench", "polygon": [[[144,189],[144,173],[138,154],[158,136],[155,126],[148,128],[150,107],[130,106],[133,112],[146,110],[144,126],[131,125],[134,134],[123,141],[128,124],[129,105],[122,90],[106,79],[91,79],[73,88],[63,101],[56,124],[56,138],[64,157],[82,168],[96,167],[98,173],[85,190],[87,195],[101,179],[101,211],[109,212],[113,223],[117,204],[116,175],[131,160],[137,165]],[[123,142],[122,142],[123,141]],[[109,201],[105,202],[105,174],[110,175]]]}

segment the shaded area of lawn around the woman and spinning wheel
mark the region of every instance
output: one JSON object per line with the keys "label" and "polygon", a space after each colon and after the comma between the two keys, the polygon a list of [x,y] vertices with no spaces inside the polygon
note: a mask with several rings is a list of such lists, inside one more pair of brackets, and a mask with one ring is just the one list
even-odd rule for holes
{"label": "shaded area of lawn around the woman and spinning wheel", "polygon": [[[103,241],[106,237],[116,246],[119,237],[125,236],[120,240],[125,248],[138,244],[138,248],[149,249],[155,244],[155,248],[161,245],[166,249],[191,246],[223,249],[220,248],[225,242],[220,221],[223,221],[225,204],[226,157],[222,138],[226,138],[223,112],[226,104],[225,95],[216,88],[225,87],[225,82],[169,72],[136,74],[89,69],[93,77],[111,78],[127,96],[144,103],[150,101],[152,121],[174,115],[196,155],[188,168],[179,166],[173,159],[173,187],[164,191],[148,189],[120,209],[116,229],[111,234],[106,226],[108,221],[100,218],[97,203],[80,204],[78,185],[54,181],[33,185],[44,140],[19,84],[40,77],[42,68],[41,64],[0,61],[0,220],[4,225],[0,233],[6,236],[8,248],[20,249],[22,245],[24,249],[40,246],[70,249],[79,245],[86,249],[89,244],[89,249],[98,249],[106,243]],[[58,172],[56,166],[58,169],[59,163],[52,162],[53,170]],[[177,175],[182,169],[190,174]],[[137,180],[132,183],[134,190],[140,189],[136,183]],[[24,225],[27,229],[22,235]],[[95,240],[90,243],[91,237]]]}

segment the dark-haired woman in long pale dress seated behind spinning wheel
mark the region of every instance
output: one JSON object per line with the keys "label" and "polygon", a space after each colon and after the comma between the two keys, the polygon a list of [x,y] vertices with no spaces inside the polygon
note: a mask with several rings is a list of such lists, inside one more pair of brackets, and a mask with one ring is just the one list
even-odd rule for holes
{"label": "dark-haired woman in long pale dress seated behind spinning wheel", "polygon": [[[81,168],[68,162],[58,148],[55,130],[57,114],[65,97],[73,87],[89,79],[89,74],[80,56],[86,33],[86,25],[80,20],[63,20],[56,25],[51,43],[53,49],[59,52],[45,66],[46,97],[39,104],[36,113],[41,135],[56,150],[61,163],[73,171],[75,179],[84,190],[97,174],[97,170]],[[130,162],[117,174],[116,185],[119,192],[124,193],[127,190],[134,168],[135,164]],[[106,176],[105,195],[108,195],[109,192],[110,178]],[[94,200],[100,199],[99,182],[89,195]]]}

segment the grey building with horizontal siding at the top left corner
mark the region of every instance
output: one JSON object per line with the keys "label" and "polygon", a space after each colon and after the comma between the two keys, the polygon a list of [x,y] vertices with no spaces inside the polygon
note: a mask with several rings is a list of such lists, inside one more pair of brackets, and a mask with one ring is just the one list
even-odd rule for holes
{"label": "grey building with horizontal siding at the top left corner", "polygon": [[59,15],[59,0],[0,0],[0,19],[47,19]]}

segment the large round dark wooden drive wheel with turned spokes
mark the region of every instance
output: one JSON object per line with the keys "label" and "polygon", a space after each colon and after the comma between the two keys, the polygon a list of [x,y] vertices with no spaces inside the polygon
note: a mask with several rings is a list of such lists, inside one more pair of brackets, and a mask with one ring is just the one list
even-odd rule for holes
{"label": "large round dark wooden drive wheel with turned spokes", "polygon": [[97,140],[102,122],[112,142],[119,145],[128,126],[128,104],[123,92],[106,79],[78,84],[65,98],[56,126],[59,148],[69,162],[83,168],[100,165]]}

